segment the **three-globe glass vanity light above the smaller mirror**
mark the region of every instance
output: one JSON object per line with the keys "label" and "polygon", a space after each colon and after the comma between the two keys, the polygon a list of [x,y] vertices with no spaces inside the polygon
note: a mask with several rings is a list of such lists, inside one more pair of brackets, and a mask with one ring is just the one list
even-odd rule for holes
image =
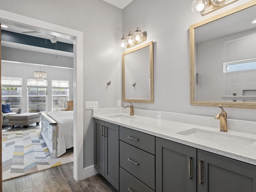
{"label": "three-globe glass vanity light above the smaller mirror", "polygon": [[147,39],[146,32],[142,33],[140,30],[140,27],[138,27],[135,33],[130,32],[127,37],[125,35],[122,37],[122,39],[119,41],[119,47],[130,48],[134,45],[144,42],[146,39]]}

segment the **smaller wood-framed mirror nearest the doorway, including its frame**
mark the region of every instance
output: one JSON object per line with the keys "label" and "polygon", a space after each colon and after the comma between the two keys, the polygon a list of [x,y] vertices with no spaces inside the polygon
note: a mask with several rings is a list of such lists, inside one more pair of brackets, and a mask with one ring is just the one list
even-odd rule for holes
{"label": "smaller wood-framed mirror nearest the doorway, including its frame", "polygon": [[154,102],[153,42],[123,53],[123,101]]}

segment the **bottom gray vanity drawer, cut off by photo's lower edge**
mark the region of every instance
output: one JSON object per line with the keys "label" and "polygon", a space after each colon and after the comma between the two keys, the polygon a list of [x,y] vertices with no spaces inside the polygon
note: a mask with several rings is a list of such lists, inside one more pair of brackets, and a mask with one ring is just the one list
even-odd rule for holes
{"label": "bottom gray vanity drawer, cut off by photo's lower edge", "polygon": [[[129,191],[130,190],[130,191]],[[120,192],[154,192],[120,167]]]}

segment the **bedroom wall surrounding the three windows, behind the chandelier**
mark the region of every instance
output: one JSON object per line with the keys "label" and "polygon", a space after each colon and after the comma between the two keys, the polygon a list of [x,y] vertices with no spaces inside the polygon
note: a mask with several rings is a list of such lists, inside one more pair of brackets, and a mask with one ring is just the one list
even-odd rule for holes
{"label": "bedroom wall surrounding the three windows, behind the chandelier", "polygon": [[[22,112],[28,112],[27,103],[27,78],[34,78],[34,71],[38,71],[40,66],[2,62],[2,76],[22,78]],[[52,80],[68,80],[69,81],[69,99],[73,100],[73,69],[56,68],[51,66],[41,66],[42,71],[47,73],[48,89],[47,89],[47,106],[46,110],[52,111]]]}

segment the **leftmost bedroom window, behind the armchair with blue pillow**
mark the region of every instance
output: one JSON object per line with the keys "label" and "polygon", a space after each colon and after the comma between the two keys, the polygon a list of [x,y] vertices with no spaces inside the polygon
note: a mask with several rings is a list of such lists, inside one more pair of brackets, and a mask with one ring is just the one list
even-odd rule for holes
{"label": "leftmost bedroom window, behind the armchair with blue pillow", "polygon": [[2,102],[21,108],[22,78],[2,77]]}

